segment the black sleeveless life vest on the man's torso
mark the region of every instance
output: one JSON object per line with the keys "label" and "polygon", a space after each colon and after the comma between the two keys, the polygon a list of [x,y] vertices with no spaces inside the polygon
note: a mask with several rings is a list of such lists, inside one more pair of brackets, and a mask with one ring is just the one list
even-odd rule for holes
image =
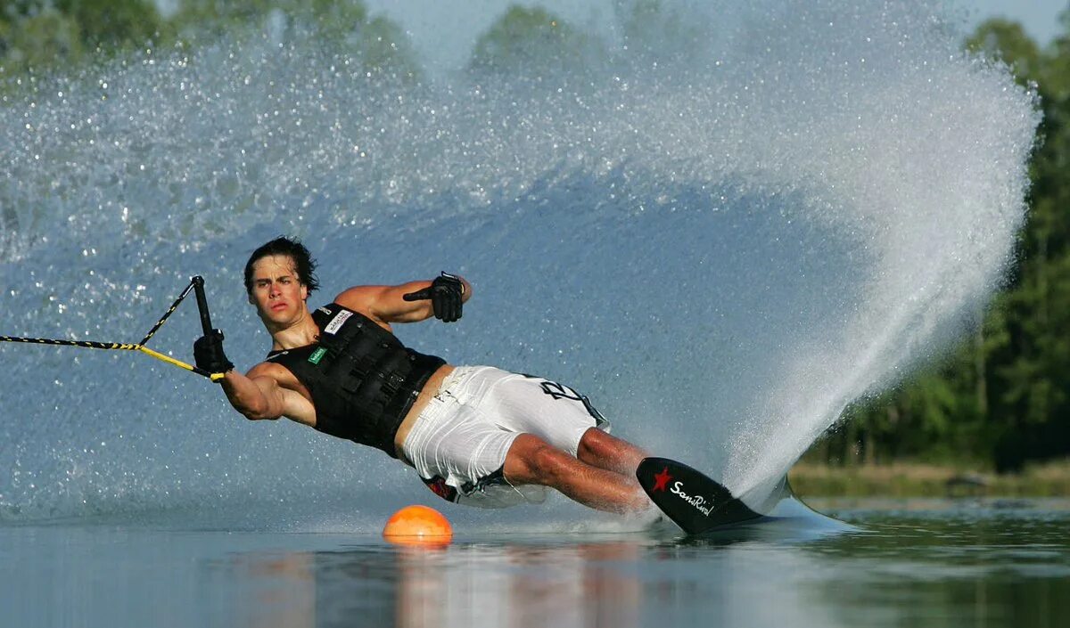
{"label": "black sleeveless life vest on the man's torso", "polygon": [[312,395],[316,429],[397,457],[394,437],[427,380],[445,364],[407,348],[360,312],[331,303],[312,312],[317,342],[268,354]]}

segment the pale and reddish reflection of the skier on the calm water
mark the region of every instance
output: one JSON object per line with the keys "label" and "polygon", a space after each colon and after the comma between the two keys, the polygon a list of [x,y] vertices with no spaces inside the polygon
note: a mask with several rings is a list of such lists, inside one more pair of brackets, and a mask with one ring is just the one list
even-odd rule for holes
{"label": "pale and reddish reflection of the skier on the calm water", "polygon": [[[239,579],[260,581],[245,625],[640,625],[643,588],[635,540],[449,548],[360,546],[234,558]],[[632,567],[628,567],[631,565]]]}

